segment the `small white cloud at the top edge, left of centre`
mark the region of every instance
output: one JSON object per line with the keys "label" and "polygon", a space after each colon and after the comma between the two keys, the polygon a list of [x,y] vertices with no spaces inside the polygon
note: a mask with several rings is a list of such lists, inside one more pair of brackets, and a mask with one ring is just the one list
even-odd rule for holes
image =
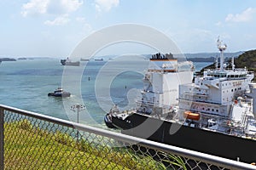
{"label": "small white cloud at the top edge, left of centre", "polygon": [[98,12],[108,12],[111,8],[119,5],[119,0],[95,0]]}

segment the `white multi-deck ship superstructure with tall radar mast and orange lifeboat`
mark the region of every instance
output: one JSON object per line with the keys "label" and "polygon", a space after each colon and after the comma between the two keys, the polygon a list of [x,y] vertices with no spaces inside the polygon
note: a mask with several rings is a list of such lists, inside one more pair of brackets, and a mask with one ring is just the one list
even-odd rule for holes
{"label": "white multi-deck ship superstructure with tall radar mast and orange lifeboat", "polygon": [[249,86],[254,73],[247,68],[236,69],[234,59],[227,69],[224,64],[226,48],[218,40],[220,67],[216,65],[214,70],[204,71],[203,77],[195,77],[194,83],[179,86],[177,120],[191,127],[255,137],[253,101],[255,103],[256,90]]}

